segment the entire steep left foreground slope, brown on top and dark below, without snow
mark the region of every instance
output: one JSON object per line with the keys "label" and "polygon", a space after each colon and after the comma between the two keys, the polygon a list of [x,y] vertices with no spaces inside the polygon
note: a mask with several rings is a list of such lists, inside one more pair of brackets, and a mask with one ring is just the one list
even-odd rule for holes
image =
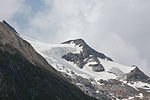
{"label": "entire steep left foreground slope, brown on top and dark below, without snow", "polygon": [[95,100],[69,83],[6,22],[0,22],[0,100]]}

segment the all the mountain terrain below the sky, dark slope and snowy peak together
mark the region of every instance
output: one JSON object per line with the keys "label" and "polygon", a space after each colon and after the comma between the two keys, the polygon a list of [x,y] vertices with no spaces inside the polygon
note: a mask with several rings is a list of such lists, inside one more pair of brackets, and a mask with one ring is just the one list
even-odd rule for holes
{"label": "all the mountain terrain below the sky, dark slope and snowy peak together", "polygon": [[150,77],[83,39],[46,44],[3,21],[0,100],[150,100]]}

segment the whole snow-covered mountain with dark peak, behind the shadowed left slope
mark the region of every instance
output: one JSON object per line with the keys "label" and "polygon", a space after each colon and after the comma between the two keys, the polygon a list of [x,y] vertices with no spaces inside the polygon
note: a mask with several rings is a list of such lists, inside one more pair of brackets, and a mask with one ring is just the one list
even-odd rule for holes
{"label": "whole snow-covered mountain with dark peak, behind the shadowed left slope", "polygon": [[125,66],[76,39],[45,44],[23,37],[57,71],[86,94],[102,100],[149,100],[150,78],[137,66]]}

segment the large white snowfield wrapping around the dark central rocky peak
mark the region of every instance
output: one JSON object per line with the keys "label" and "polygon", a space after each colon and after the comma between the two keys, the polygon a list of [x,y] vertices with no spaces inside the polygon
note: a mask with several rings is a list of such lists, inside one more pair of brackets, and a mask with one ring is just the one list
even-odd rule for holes
{"label": "large white snowfield wrapping around the dark central rocky peak", "polygon": [[116,79],[119,75],[129,73],[135,67],[124,66],[116,62],[108,61],[105,59],[100,59],[100,63],[105,68],[103,72],[94,72],[89,64],[96,64],[96,62],[89,62],[82,69],[77,67],[73,62],[66,61],[62,58],[63,55],[72,52],[80,53],[82,52],[82,47],[75,45],[74,43],[70,44],[45,44],[37,40],[29,39],[23,37],[27,40],[34,49],[41,54],[47,61],[50,63],[56,70],[60,72],[65,72],[71,75],[71,72],[74,72],[77,75],[80,75],[84,78],[94,78],[95,80],[99,79]]}

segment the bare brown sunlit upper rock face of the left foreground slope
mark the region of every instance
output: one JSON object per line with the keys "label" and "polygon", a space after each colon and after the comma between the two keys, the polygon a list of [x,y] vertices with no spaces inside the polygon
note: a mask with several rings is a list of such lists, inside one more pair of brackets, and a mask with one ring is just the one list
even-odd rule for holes
{"label": "bare brown sunlit upper rock face of the left foreground slope", "polygon": [[46,60],[28,42],[20,38],[16,32],[12,31],[10,25],[7,25],[6,22],[0,22],[0,44],[9,44],[16,48],[33,64],[39,63],[47,68],[49,66]]}

